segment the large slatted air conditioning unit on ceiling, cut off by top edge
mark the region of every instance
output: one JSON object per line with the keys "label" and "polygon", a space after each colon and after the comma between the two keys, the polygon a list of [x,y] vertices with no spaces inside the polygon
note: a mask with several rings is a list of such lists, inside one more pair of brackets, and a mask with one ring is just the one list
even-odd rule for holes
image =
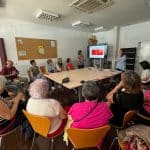
{"label": "large slatted air conditioning unit on ceiling, cut off by top edge", "polygon": [[113,5],[114,0],[74,0],[70,6],[87,13]]}

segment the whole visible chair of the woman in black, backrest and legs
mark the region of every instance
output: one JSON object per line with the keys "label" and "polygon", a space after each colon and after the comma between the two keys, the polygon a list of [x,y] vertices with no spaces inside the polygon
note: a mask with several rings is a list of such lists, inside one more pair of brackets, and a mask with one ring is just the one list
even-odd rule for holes
{"label": "whole visible chair of the woman in black, backrest and legs", "polygon": [[[122,126],[121,127],[115,126],[116,130],[117,130],[117,135],[118,135],[119,130],[125,129],[126,126],[128,125],[128,123],[136,117],[136,113],[137,113],[136,110],[130,110],[130,111],[125,113]],[[120,148],[122,150],[124,150],[125,149],[125,143],[123,141],[119,140],[118,136],[114,138],[114,140],[111,144],[111,147],[113,146],[113,144],[116,140],[118,140],[118,144],[119,144]]]}

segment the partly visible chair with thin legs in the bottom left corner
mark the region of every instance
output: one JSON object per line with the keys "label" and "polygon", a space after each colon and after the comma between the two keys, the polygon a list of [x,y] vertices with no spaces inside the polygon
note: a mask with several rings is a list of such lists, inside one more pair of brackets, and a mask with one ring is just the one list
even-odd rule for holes
{"label": "partly visible chair with thin legs in the bottom left corner", "polygon": [[[9,135],[12,134],[12,133],[15,133],[15,137],[16,137],[16,141],[17,141],[17,147],[18,147],[18,150],[20,150],[20,145],[19,145],[18,136],[17,136],[17,130],[18,130],[19,128],[20,128],[20,127],[18,126],[18,127],[14,128],[14,129],[12,129],[12,130],[6,132],[6,133],[0,134],[0,147],[1,147],[1,145],[2,145],[2,140],[3,140],[4,137],[9,136]],[[3,144],[2,146],[3,146],[2,149],[4,150],[4,149],[5,149],[4,144]]]}

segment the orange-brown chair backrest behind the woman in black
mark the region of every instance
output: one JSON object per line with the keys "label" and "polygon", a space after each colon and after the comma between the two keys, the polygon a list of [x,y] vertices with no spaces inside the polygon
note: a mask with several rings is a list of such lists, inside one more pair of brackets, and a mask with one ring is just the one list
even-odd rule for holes
{"label": "orange-brown chair backrest behind the woman in black", "polygon": [[125,128],[126,125],[136,116],[136,110],[130,110],[125,113],[124,119],[123,119],[123,125],[122,128]]}

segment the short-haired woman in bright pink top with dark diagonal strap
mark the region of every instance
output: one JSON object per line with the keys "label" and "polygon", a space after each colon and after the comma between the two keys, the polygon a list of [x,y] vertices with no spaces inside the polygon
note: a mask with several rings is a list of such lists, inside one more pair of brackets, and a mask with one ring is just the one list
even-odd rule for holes
{"label": "short-haired woman in bright pink top with dark diagonal strap", "polygon": [[112,118],[109,102],[98,101],[99,88],[94,81],[87,81],[82,87],[85,101],[75,103],[69,110],[73,120],[71,127],[92,129],[104,126]]}

